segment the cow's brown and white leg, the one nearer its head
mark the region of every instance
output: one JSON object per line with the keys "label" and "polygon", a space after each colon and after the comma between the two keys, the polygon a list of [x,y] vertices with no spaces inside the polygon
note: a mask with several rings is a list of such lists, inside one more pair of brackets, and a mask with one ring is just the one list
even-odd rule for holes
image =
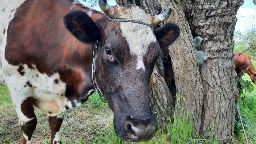
{"label": "cow's brown and white leg, the one nearer its head", "polygon": [[49,125],[51,128],[51,144],[61,144],[60,127],[63,121],[64,113],[56,117],[49,117]]}

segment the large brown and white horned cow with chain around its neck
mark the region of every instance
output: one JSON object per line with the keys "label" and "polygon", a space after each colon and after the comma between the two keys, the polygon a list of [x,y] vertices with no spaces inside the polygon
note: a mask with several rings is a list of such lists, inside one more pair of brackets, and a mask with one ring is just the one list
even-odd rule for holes
{"label": "large brown and white horned cow with chain around its neck", "polygon": [[154,136],[149,79],[160,48],[175,41],[179,28],[109,21],[107,15],[158,24],[169,15],[151,16],[135,5],[112,7],[106,0],[99,5],[105,14],[75,0],[0,0],[0,83],[10,91],[23,143],[31,143],[37,124],[33,106],[49,115],[51,143],[61,143],[64,111],[95,91],[97,41],[96,79],[114,112],[116,134],[126,141]]}

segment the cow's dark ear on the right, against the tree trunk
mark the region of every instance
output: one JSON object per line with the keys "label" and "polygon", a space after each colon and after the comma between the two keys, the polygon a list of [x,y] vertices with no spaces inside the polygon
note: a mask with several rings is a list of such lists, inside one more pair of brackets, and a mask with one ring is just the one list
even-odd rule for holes
{"label": "cow's dark ear on the right, against the tree trunk", "polygon": [[180,35],[180,29],[176,24],[167,23],[163,27],[155,29],[154,34],[161,48],[171,45]]}

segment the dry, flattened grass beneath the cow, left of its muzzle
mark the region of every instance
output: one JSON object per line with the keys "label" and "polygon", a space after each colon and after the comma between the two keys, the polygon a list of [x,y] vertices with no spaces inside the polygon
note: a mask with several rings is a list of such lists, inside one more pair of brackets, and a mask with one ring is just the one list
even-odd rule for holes
{"label": "dry, flattened grass beneath the cow, left of its muzzle", "polygon": [[[37,117],[37,126],[32,136],[32,143],[49,143],[48,116],[37,108],[34,108],[34,111]],[[22,134],[12,103],[0,105],[0,120],[0,143],[21,143]],[[99,137],[112,131],[112,124],[113,112],[107,104],[101,102],[94,95],[82,106],[65,113],[61,127],[62,142],[64,144],[98,143]],[[99,139],[99,143],[101,142]]]}

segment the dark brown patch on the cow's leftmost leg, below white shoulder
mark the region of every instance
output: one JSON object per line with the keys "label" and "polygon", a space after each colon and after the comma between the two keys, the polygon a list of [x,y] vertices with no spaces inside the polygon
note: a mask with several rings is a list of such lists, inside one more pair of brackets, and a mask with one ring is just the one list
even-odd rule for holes
{"label": "dark brown patch on the cow's leftmost leg, below white shoulder", "polygon": [[[34,98],[28,97],[25,101],[21,104],[21,112],[29,119],[33,118],[26,123],[21,123],[20,125],[21,131],[28,137],[28,140],[31,140],[32,134],[35,130],[37,120],[34,114]],[[26,142],[26,141],[25,141]],[[24,143],[24,139],[23,142]]]}

